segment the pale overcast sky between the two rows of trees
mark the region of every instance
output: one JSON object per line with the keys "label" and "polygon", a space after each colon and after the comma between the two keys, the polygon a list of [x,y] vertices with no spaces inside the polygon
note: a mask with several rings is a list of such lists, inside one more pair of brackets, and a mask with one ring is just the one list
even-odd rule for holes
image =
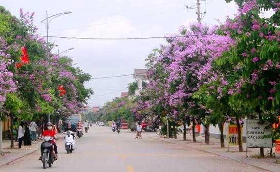
{"label": "pale overcast sky between the two rows of trees", "polygon": [[[47,35],[44,24],[40,21],[48,16],[72,11],[50,22],[49,36],[90,37],[90,38],[131,38],[162,37],[166,33],[178,33],[178,28],[197,20],[196,0],[48,0],[22,1],[0,0],[13,15],[19,17],[19,10],[35,12],[34,24],[39,28],[39,35]],[[205,4],[206,2],[206,4]],[[201,11],[206,14],[202,23],[217,25],[215,18],[224,21],[226,16],[233,17],[236,7],[224,0],[201,1]],[[145,40],[83,40],[49,38],[57,48],[54,53],[69,48],[75,49],[64,53],[77,63],[85,73],[93,78],[133,74],[134,69],[144,69],[144,59],[154,48],[165,44],[163,39]],[[88,101],[90,106],[103,105],[114,97],[119,97],[121,90],[127,91],[127,84],[133,76],[92,79],[86,84],[95,95]],[[114,93],[113,93],[114,92]]]}

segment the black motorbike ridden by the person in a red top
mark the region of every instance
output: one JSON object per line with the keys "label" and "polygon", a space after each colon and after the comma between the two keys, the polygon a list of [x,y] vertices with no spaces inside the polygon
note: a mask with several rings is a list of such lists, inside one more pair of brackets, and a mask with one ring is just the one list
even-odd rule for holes
{"label": "black motorbike ridden by the person in a red top", "polygon": [[53,157],[53,144],[51,143],[53,139],[51,136],[42,137],[44,142],[41,143],[41,161],[44,169],[47,168],[47,164],[51,167],[55,161]]}

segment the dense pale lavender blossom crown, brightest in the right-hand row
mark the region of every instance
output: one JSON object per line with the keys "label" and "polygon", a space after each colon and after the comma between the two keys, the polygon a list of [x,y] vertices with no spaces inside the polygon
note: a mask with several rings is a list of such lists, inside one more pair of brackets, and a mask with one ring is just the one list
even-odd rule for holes
{"label": "dense pale lavender blossom crown, brightest in the right-hand row", "polygon": [[[165,67],[164,72],[169,73],[166,78],[168,90],[166,93],[170,95],[164,96],[170,97],[167,100],[170,106],[177,108],[184,106],[185,103],[189,108],[196,106],[196,102],[191,99],[192,94],[214,76],[211,62],[220,57],[224,51],[230,50],[233,41],[229,36],[218,35],[217,28],[192,23],[189,27],[179,29],[184,37],[171,40],[168,38],[169,45],[163,48],[158,62]],[[228,84],[227,81],[222,83]],[[176,110],[173,110],[173,114],[177,116],[178,113],[174,112]]]}

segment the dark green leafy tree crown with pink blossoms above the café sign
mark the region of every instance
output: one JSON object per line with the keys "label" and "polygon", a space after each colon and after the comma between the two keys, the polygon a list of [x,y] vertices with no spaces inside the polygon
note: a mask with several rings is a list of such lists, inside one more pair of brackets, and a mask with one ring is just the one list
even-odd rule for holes
{"label": "dark green leafy tree crown with pink blossoms above the caf\u00e9 sign", "polygon": [[[224,34],[235,39],[236,43],[228,61],[234,61],[233,66],[243,82],[235,84],[235,93],[240,93],[244,99],[256,100],[258,103],[255,104],[263,106],[265,111],[278,102],[279,9],[280,4],[275,1],[267,2],[266,6],[255,0],[246,1],[240,4],[235,18],[228,18],[221,27]],[[273,10],[273,14],[270,18],[263,18],[261,10]]]}

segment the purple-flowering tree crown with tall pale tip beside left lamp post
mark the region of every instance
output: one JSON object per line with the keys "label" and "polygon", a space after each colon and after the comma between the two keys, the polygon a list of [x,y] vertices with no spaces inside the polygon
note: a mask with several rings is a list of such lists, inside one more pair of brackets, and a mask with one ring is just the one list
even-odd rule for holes
{"label": "purple-flowering tree crown with tall pale tip beside left lamp post", "polygon": [[[16,42],[26,45],[27,50],[41,46],[41,49],[46,51],[40,52],[41,54],[32,54],[31,51],[28,51],[30,63],[26,67],[18,69],[15,73],[19,76],[17,77],[18,86],[23,89],[26,87],[25,90],[27,90],[30,87],[28,82],[33,85],[36,94],[39,95],[37,97],[38,101],[35,102],[37,112],[41,111],[38,103],[46,101],[50,106],[55,107],[56,114],[69,116],[73,113],[80,113],[83,103],[78,99],[75,86],[77,78],[68,70],[72,64],[61,65],[58,56],[51,53],[51,47],[48,47],[46,40],[36,34],[37,28],[33,26],[33,15],[34,13],[24,13],[20,9],[19,22],[29,30],[30,35],[26,37],[17,35]],[[19,22],[18,25],[20,26]],[[66,94],[59,96],[57,87],[61,84],[66,90]],[[27,93],[30,93],[30,91]]]}

